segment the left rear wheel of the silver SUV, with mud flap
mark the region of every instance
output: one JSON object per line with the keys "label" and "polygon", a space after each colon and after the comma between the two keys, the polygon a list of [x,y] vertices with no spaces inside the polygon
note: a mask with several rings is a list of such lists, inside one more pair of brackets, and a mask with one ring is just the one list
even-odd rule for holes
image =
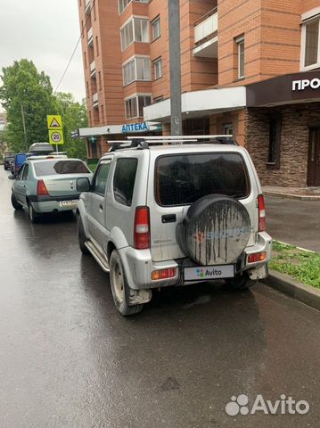
{"label": "left rear wheel of the silver SUV, with mud flap", "polygon": [[122,316],[137,314],[144,308],[144,305],[130,306],[128,304],[130,289],[117,250],[113,250],[111,253],[110,284],[114,304]]}

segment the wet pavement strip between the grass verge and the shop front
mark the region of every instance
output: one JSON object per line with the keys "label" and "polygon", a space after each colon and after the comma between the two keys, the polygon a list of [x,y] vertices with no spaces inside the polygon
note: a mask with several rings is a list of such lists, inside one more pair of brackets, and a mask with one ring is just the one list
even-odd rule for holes
{"label": "wet pavement strip between the grass verge and the shop front", "polygon": [[267,231],[278,241],[320,251],[320,201],[266,196]]}

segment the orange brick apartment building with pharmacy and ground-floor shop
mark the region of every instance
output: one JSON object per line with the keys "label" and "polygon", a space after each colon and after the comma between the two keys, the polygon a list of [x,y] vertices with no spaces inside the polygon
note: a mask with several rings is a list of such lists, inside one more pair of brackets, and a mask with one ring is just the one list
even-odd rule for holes
{"label": "orange brick apartment building with pharmacy and ground-floor shop", "polygon": [[[169,134],[167,0],[78,6],[89,157]],[[264,185],[320,185],[319,22],[319,0],[180,0],[184,133],[233,134]]]}

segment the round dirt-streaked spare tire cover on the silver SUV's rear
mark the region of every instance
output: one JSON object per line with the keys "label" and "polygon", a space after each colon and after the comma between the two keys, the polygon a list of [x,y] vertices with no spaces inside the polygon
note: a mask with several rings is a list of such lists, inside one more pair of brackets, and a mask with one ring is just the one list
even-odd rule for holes
{"label": "round dirt-streaked spare tire cover on the silver SUV's rear", "polygon": [[250,238],[250,216],[241,202],[209,194],[189,208],[178,242],[202,266],[233,263]]}

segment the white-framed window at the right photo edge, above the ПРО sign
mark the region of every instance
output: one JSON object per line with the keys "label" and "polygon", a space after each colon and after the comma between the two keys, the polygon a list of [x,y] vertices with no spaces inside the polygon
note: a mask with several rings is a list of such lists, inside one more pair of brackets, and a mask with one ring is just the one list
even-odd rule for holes
{"label": "white-framed window at the right photo edge, above the \u041f\u0420\u041e sign", "polygon": [[319,18],[302,25],[301,33],[301,69],[310,70],[320,65]]}

